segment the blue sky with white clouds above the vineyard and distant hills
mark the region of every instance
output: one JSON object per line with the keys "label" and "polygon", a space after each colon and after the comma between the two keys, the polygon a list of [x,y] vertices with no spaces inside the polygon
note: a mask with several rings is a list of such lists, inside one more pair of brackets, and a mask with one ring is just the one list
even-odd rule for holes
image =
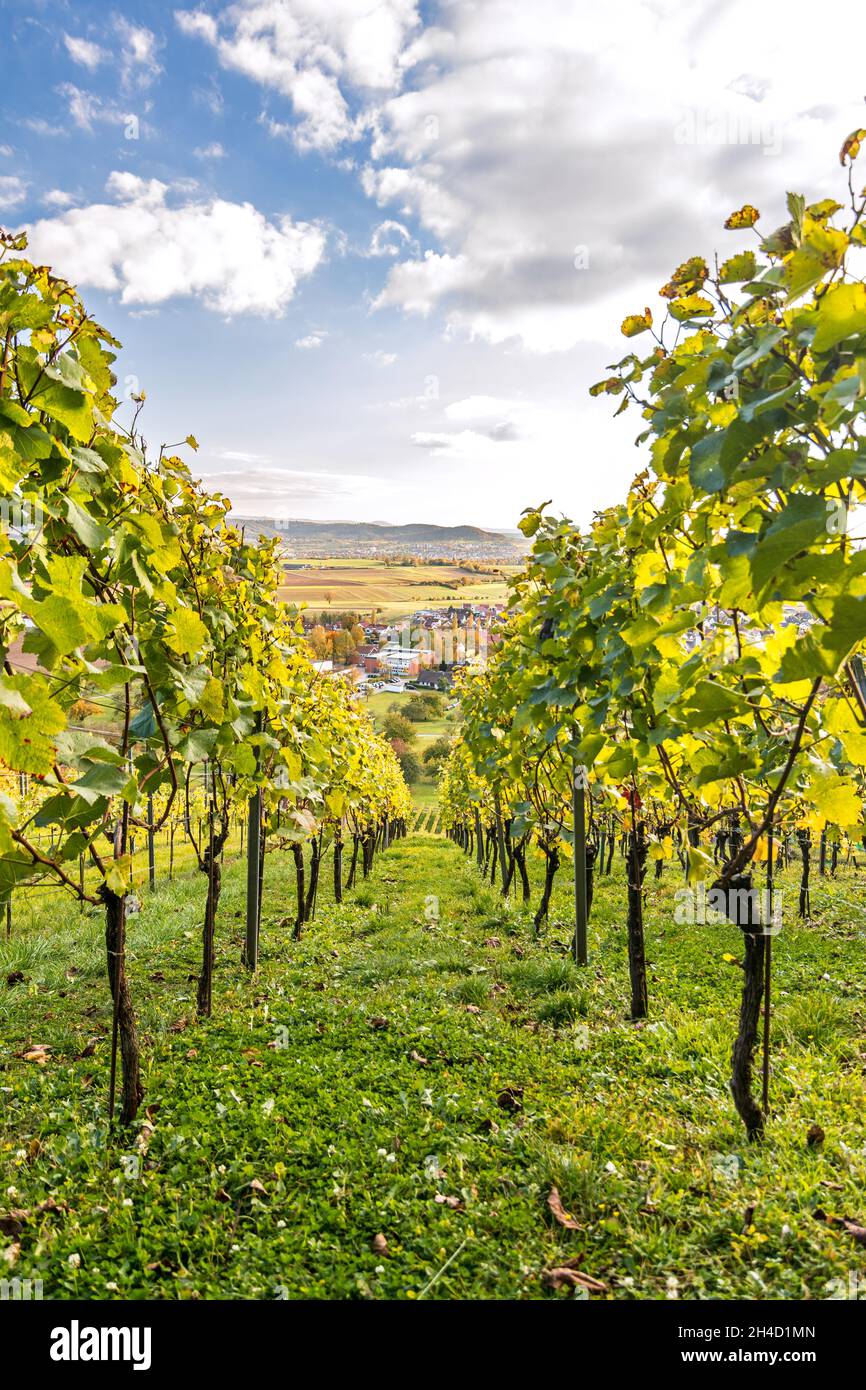
{"label": "blue sky with white clouds above the vineyard and distant hills", "polygon": [[639,467],[638,418],[587,398],[624,314],[735,250],[733,207],[844,188],[852,15],[7,0],[0,221],[238,512],[587,520]]}

